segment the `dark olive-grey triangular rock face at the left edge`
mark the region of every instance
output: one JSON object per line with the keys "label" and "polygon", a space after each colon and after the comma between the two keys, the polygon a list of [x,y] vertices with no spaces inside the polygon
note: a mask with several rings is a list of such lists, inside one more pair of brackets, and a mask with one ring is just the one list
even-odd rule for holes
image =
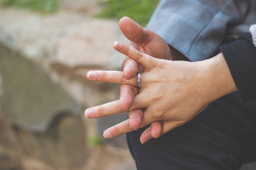
{"label": "dark olive-grey triangular rock face at the left edge", "polygon": [[45,130],[52,117],[81,105],[33,62],[0,45],[2,106],[8,118],[34,130]]}

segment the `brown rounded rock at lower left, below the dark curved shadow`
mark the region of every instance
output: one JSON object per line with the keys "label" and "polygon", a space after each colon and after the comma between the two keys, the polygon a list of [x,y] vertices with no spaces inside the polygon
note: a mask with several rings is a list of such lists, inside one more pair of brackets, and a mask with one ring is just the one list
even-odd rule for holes
{"label": "brown rounded rock at lower left, below the dark curved shadow", "polygon": [[26,154],[54,168],[79,169],[90,155],[83,122],[69,112],[57,115],[45,133],[16,130]]}

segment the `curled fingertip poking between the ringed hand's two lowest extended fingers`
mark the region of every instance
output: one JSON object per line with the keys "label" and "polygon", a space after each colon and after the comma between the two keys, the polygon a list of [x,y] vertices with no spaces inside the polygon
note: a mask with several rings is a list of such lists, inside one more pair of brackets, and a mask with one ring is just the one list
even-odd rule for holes
{"label": "curled fingertip poking between the ringed hand's two lowest extended fingers", "polygon": [[138,130],[141,125],[143,111],[141,109],[136,109],[128,112],[128,116],[131,129]]}

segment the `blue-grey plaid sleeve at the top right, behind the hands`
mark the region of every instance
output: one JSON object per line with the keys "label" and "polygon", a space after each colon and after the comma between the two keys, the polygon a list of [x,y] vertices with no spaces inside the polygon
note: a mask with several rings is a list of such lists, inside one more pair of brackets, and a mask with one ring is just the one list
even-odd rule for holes
{"label": "blue-grey plaid sleeve at the top right, behind the hands", "polygon": [[161,0],[147,28],[190,61],[200,61],[213,57],[227,26],[241,22],[247,8],[242,0]]}

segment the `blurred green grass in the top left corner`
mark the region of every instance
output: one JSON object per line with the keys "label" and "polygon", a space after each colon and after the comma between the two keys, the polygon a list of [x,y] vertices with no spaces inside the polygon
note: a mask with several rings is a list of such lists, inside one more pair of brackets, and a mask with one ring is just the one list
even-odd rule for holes
{"label": "blurred green grass in the top left corner", "polygon": [[58,10],[58,0],[0,0],[0,5],[28,8],[45,13],[53,13]]}

